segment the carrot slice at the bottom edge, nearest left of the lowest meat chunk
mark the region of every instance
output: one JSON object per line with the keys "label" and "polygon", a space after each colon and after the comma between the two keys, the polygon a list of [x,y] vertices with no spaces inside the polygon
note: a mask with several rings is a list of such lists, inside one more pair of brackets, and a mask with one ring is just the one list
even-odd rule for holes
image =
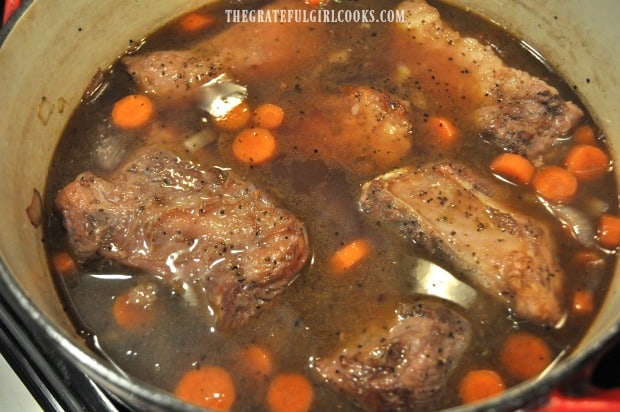
{"label": "carrot slice at the bottom edge, nearest left of the lowest meat chunk", "polygon": [[271,412],[306,412],[313,398],[312,385],[303,375],[280,374],[269,385],[267,406]]}

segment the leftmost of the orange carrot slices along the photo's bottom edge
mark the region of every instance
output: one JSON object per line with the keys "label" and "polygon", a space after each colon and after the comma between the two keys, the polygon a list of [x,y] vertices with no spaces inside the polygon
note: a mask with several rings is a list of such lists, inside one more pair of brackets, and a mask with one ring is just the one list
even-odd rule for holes
{"label": "leftmost of the orange carrot slices along the photo's bottom edge", "polygon": [[229,410],[236,397],[230,374],[217,366],[186,372],[174,393],[186,402],[215,411]]}

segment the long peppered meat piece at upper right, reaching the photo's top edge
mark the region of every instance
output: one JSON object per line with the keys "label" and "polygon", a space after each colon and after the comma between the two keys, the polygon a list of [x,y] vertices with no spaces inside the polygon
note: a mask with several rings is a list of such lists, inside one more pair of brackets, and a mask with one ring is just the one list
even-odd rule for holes
{"label": "long peppered meat piece at upper right, reaching the photo's top edge", "polygon": [[400,72],[412,100],[425,110],[452,111],[458,118],[463,104],[474,105],[477,115],[470,121],[485,139],[530,159],[583,116],[543,80],[506,66],[490,45],[448,27],[423,0],[404,1],[399,9],[406,20],[394,30],[393,44],[407,50]]}

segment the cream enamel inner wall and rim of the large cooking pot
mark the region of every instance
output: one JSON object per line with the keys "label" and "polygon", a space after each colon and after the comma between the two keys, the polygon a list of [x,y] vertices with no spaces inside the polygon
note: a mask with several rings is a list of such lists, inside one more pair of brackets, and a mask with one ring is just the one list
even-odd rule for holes
{"label": "cream enamel inner wall and rim of the large cooking pot", "polygon": [[[43,192],[58,138],[96,70],[108,67],[130,40],[143,38],[205,1],[30,0],[22,3],[0,35],[0,293],[43,347],[54,348],[137,410],[196,408],[128,379],[87,347],[63,311],[48,270],[41,228],[33,227],[25,208],[33,189]],[[605,131],[618,162],[620,4],[616,0],[449,2],[497,22],[544,56]],[[513,410],[544,403],[552,388],[609,347],[619,328],[616,268],[600,314],[581,344],[545,376],[479,407]]]}

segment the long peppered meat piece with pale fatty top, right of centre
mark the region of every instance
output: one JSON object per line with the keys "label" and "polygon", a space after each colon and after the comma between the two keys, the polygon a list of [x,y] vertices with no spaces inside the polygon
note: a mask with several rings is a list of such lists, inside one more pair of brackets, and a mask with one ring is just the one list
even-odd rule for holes
{"label": "long peppered meat piece with pale fatty top, right of centre", "polygon": [[364,185],[361,209],[446,260],[519,316],[556,324],[564,273],[549,229],[494,198],[465,166],[400,169]]}

